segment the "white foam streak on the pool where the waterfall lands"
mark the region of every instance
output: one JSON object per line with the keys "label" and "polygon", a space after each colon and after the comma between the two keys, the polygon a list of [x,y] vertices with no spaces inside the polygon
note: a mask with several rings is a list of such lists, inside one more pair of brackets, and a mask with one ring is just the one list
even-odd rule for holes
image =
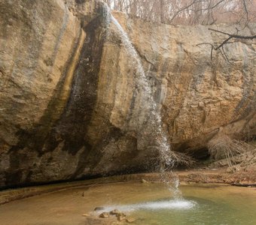
{"label": "white foam streak on the pool where the waterfall lands", "polygon": [[[163,210],[163,209],[179,209],[186,210],[193,208],[197,202],[188,201],[185,199],[173,199],[157,202],[142,202],[131,205],[109,205],[104,207],[104,211],[111,211],[117,208],[120,211],[139,211],[139,210]],[[102,212],[102,211],[101,211]]]}

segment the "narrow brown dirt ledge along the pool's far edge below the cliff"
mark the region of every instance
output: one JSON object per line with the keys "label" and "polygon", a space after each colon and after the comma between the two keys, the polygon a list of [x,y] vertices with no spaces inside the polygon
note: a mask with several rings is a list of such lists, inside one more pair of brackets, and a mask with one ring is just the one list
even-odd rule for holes
{"label": "narrow brown dirt ledge along the pool's far edge below the cliff", "polygon": [[[184,169],[169,172],[169,178],[178,175],[181,183],[206,183],[206,184],[230,184],[243,187],[256,187],[256,168],[246,171],[230,171],[228,168],[219,169]],[[131,175],[115,175],[108,178],[96,178],[86,181],[74,181],[61,184],[49,184],[35,187],[22,187],[17,189],[8,189],[0,191],[0,205],[12,202],[18,199],[36,196],[45,193],[52,193],[66,189],[75,189],[79,187],[91,187],[98,184],[108,184],[114,182],[132,182],[147,181],[159,182],[161,175],[159,173],[140,173]]]}

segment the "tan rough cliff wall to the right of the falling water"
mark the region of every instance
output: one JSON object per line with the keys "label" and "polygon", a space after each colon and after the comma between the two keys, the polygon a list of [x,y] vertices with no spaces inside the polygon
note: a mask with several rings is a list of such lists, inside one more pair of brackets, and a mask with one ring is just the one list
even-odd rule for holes
{"label": "tan rough cliff wall to the right of the falling water", "polygon": [[[166,26],[131,20],[115,13],[139,52],[156,101],[162,103],[163,126],[178,151],[205,148],[212,138],[255,135],[256,42],[231,40],[224,55],[202,43],[227,38],[207,26]],[[211,28],[215,28],[212,26]],[[219,29],[233,33],[234,27]],[[255,25],[245,29],[254,34]],[[154,80],[154,81],[152,81]]]}

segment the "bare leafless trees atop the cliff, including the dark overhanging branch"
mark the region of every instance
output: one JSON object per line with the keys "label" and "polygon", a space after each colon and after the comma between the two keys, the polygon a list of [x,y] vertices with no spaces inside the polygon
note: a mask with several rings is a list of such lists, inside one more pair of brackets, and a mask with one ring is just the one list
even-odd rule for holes
{"label": "bare leafless trees atop the cliff, including the dark overhanging branch", "polygon": [[[216,25],[211,31],[227,35],[220,43],[200,43],[219,51],[228,61],[224,45],[230,40],[256,39],[256,31],[245,34],[245,28],[256,22],[256,0],[103,0],[112,9],[120,10],[143,20],[170,25]],[[218,30],[218,24],[234,25],[236,30],[227,33]]]}

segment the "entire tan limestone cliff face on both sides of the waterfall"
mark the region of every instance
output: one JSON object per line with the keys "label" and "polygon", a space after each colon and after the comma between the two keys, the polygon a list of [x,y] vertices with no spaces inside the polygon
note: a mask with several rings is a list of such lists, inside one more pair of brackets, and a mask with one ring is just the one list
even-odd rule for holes
{"label": "entire tan limestone cliff face on both sides of the waterfall", "polygon": [[0,11],[2,187],[151,169],[155,114],[172,149],[197,157],[219,136],[256,135],[255,42],[225,46],[227,62],[197,46],[220,40],[207,27],[113,13],[120,28],[99,1]]}

